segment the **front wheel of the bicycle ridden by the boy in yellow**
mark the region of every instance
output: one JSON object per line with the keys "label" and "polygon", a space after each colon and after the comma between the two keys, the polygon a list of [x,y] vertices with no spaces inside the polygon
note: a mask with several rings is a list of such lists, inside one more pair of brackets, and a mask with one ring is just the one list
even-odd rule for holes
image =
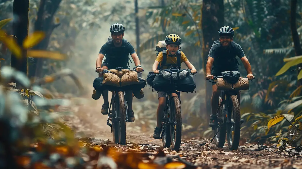
{"label": "front wheel of the bicycle ridden by the boy in yellow", "polygon": [[[173,150],[179,150],[182,139],[182,111],[178,96],[171,98],[170,105],[170,136]],[[175,124],[176,123],[176,124]]]}

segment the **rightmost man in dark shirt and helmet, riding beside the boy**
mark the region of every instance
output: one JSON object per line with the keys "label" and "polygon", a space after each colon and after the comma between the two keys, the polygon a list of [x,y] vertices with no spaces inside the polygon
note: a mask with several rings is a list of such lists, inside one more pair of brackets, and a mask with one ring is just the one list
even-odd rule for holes
{"label": "rightmost man in dark shirt and helmet, riding beside the boy", "polygon": [[[253,79],[253,73],[251,65],[249,64],[248,59],[244,55],[244,52],[240,45],[233,42],[234,30],[229,26],[221,27],[218,31],[219,41],[215,41],[212,45],[209,56],[207,59],[206,66],[206,75],[207,79],[213,79],[214,76],[222,76],[221,72],[224,71],[238,71],[239,62],[236,59],[236,56],[240,58],[247,71],[247,77],[249,80]],[[213,67],[212,67],[213,65]],[[216,111],[219,104],[219,96],[221,91],[217,90],[215,83],[212,84],[212,97],[211,97],[211,109],[212,114],[210,116],[210,127],[216,126]],[[240,91],[237,93],[237,98],[240,103]],[[243,119],[242,119],[243,120]]]}

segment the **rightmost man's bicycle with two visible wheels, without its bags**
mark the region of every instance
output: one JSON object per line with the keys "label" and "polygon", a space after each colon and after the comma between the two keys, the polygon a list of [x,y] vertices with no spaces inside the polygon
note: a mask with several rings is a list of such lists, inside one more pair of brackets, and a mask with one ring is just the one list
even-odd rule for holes
{"label": "rightmost man's bicycle with two visible wheels, without its bags", "polygon": [[[217,80],[217,78],[223,78],[223,76],[214,76],[214,79],[209,81],[211,83],[216,83],[215,80]],[[241,124],[243,124],[243,119],[240,117],[240,105],[237,99],[237,90],[221,90],[221,94],[219,96],[219,107],[216,114],[218,125],[216,127],[212,127],[214,137],[210,142],[214,139],[215,145],[222,148],[227,137],[229,149],[237,150],[240,140]]]}

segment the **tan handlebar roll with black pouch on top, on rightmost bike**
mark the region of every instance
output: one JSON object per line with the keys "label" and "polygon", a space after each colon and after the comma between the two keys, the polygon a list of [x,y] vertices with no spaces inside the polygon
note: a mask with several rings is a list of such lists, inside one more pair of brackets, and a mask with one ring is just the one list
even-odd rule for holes
{"label": "tan handlebar roll with black pouch on top, on rightmost bike", "polygon": [[218,90],[248,90],[249,79],[240,77],[238,71],[224,71],[221,73],[223,78],[217,78]]}

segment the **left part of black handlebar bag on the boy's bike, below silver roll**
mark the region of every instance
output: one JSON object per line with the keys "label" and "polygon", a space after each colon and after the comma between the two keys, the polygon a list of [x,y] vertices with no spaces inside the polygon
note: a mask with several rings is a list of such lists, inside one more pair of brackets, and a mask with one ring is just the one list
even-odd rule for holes
{"label": "left part of black handlebar bag on the boy's bike, below silver roll", "polygon": [[152,82],[152,88],[157,92],[167,92],[176,89],[177,84],[170,84],[170,80],[165,79],[162,75],[156,74]]}

